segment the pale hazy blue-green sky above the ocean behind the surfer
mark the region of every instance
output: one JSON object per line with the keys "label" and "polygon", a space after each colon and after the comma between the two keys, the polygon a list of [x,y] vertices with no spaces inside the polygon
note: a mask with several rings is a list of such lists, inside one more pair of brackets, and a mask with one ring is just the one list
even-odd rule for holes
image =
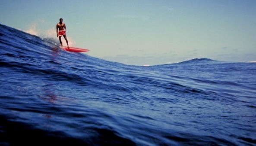
{"label": "pale hazy blue-green sky above the ocean behind the surfer", "polygon": [[1,0],[0,23],[124,64],[256,61],[256,0]]}

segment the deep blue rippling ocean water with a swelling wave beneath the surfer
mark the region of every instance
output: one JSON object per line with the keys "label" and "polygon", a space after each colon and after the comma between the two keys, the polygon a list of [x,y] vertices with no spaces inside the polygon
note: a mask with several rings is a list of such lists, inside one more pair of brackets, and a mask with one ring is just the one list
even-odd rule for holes
{"label": "deep blue rippling ocean water with a swelling wave beneath the surfer", "polygon": [[256,145],[256,63],[150,67],[0,24],[0,145]]}

